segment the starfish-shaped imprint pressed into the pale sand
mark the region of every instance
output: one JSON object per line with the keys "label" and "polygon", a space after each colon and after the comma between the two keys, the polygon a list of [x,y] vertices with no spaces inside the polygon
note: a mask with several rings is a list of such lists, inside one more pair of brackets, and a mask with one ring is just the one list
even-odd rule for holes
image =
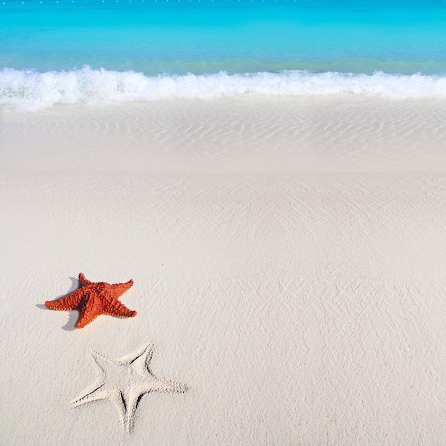
{"label": "starfish-shaped imprint pressed into the pale sand", "polygon": [[106,399],[113,401],[118,408],[124,430],[130,432],[142,395],[150,392],[183,393],[187,390],[186,385],[153,375],[149,368],[152,355],[152,344],[118,359],[108,358],[92,351],[91,359],[98,369],[98,379],[73,400],[71,405],[76,407]]}

